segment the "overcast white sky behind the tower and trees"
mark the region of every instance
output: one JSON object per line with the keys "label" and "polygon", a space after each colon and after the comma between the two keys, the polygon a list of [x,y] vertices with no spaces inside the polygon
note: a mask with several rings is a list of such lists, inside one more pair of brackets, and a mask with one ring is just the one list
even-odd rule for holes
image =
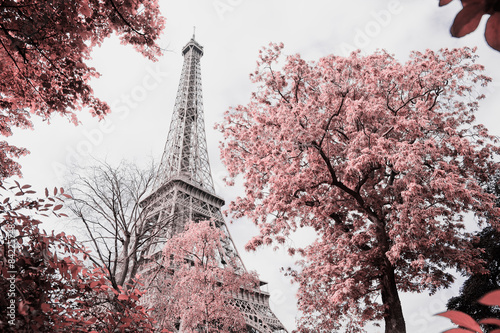
{"label": "overcast white sky behind the tower and trees", "polygon": [[[181,49],[191,38],[193,26],[205,52],[201,66],[212,173],[216,191],[226,202],[241,193],[241,188],[226,188],[221,181],[225,175],[219,161],[221,136],[213,125],[222,120],[229,106],[248,102],[255,88],[248,74],[255,69],[258,50],[269,42],[283,42],[285,53],[300,53],[308,60],[331,53],[347,55],[360,48],[365,54],[385,49],[404,61],[411,50],[477,46],[479,62],[494,80],[478,120],[500,135],[500,73],[495,66],[500,52],[484,41],[486,17],[472,35],[462,39],[449,35],[460,8],[458,0],[442,8],[437,0],[163,0],[161,10],[167,25],[161,45],[168,51],[159,62],[148,62],[116,38],[94,52],[91,63],[102,74],[93,82],[95,93],[113,108],[105,123],[82,113],[82,125],[74,127],[55,117],[51,125],[35,121],[34,131],[15,131],[8,141],[31,151],[20,160],[23,182],[42,189],[62,185],[64,168],[74,162],[86,163],[89,154],[110,163],[122,159],[141,163],[150,157],[159,160],[182,68]],[[272,309],[288,329],[295,328],[295,289],[279,273],[292,260],[284,251],[246,253],[243,246],[256,234],[255,228],[246,221],[229,228],[247,268],[269,282]],[[300,234],[304,239],[309,236]],[[463,280],[459,281],[453,290],[433,296],[404,294],[408,332],[451,328],[447,319],[433,314],[445,310],[446,301]],[[369,332],[383,332],[383,326]]]}

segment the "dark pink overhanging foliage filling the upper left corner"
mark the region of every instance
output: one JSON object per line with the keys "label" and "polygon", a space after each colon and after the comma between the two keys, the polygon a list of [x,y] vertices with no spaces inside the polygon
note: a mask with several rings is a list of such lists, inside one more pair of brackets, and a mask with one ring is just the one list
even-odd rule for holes
{"label": "dark pink overhanging foliage filling the upper left corner", "polygon": [[[52,113],[75,124],[83,107],[103,117],[109,106],[89,85],[99,76],[86,61],[116,33],[155,59],[164,27],[157,0],[4,0],[0,2],[0,135],[31,128],[30,118]],[[0,179],[19,175],[12,158],[25,154],[0,141]]]}

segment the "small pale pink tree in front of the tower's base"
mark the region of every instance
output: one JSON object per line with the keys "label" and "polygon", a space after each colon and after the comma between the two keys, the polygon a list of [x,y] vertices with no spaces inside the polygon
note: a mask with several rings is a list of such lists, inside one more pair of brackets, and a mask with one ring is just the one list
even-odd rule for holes
{"label": "small pale pink tree in front of the tower's base", "polygon": [[[240,289],[255,290],[258,279],[224,251],[227,236],[213,221],[191,223],[167,241],[159,268],[151,269],[147,305],[163,329],[229,333],[245,330],[232,302]],[[177,324],[177,327],[176,327]]]}

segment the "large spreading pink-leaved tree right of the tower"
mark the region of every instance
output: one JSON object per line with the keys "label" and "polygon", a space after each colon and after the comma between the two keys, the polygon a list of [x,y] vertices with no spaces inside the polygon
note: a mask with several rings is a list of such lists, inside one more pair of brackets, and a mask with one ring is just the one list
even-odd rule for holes
{"label": "large spreading pink-leaved tree right of the tower", "polygon": [[[497,139],[474,112],[481,74],[468,48],[413,52],[406,63],[378,52],[286,57],[261,51],[248,105],[225,114],[222,159],[245,196],[230,204],[260,234],[248,250],[286,244],[302,227],[317,239],[299,269],[299,329],[363,331],[384,320],[405,332],[399,291],[435,292],[450,269],[479,272],[464,215],[498,224],[495,197],[478,182],[499,169]],[[491,218],[495,217],[495,218]],[[496,225],[498,227],[498,225]]]}

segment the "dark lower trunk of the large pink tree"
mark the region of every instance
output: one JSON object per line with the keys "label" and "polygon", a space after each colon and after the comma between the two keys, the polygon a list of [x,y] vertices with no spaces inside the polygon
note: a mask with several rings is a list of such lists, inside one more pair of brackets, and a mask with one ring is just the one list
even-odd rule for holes
{"label": "dark lower trunk of the large pink tree", "polygon": [[380,279],[380,292],[385,310],[385,333],[406,333],[403,309],[399,300],[394,276],[394,267],[389,259],[384,256],[383,276]]}

